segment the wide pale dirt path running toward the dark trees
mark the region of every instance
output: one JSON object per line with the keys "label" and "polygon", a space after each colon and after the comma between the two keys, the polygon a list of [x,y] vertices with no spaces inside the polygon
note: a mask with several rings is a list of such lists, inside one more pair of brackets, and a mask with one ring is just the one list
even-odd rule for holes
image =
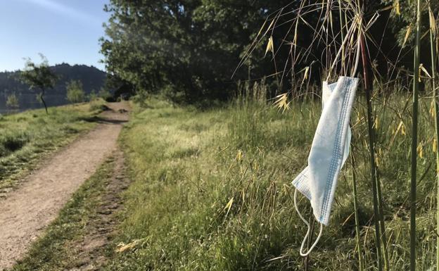
{"label": "wide pale dirt path running toward the dark trees", "polygon": [[127,104],[108,106],[112,110],[96,118],[100,122],[96,129],[57,153],[0,200],[0,270],[23,256],[71,194],[117,149],[122,123],[128,120]]}

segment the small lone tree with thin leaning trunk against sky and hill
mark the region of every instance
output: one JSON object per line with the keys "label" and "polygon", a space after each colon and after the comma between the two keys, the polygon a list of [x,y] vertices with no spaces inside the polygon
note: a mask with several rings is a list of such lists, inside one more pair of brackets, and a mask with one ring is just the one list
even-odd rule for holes
{"label": "small lone tree with thin leaning trunk against sky and hill", "polygon": [[42,62],[39,64],[33,63],[30,58],[27,59],[25,69],[20,73],[20,78],[23,83],[29,85],[30,89],[40,90],[39,99],[44,104],[46,114],[49,114],[46,101],[44,101],[44,95],[47,89],[53,89],[58,80],[58,76],[49,68],[47,58],[42,53],[40,53],[39,56],[42,58]]}

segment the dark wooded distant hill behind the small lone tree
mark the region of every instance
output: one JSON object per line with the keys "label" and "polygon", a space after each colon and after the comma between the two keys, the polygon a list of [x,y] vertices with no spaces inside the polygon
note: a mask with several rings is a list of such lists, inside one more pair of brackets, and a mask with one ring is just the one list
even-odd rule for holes
{"label": "dark wooded distant hill behind the small lone tree", "polygon": [[[54,89],[47,91],[47,106],[61,106],[68,103],[65,99],[65,84],[70,80],[81,81],[86,94],[92,90],[98,92],[106,80],[106,73],[93,66],[62,63],[52,66],[51,69],[60,79]],[[21,83],[18,77],[19,73],[19,70],[0,73],[0,113],[7,111],[6,97],[12,93],[18,97],[20,111],[42,107],[36,98],[39,90],[30,90],[27,84]]]}

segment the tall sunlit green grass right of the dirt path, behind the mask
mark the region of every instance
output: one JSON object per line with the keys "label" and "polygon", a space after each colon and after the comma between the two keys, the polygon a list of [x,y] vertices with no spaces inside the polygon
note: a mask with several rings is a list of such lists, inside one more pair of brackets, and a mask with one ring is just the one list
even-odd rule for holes
{"label": "tall sunlit green grass right of the dirt path, behind the mask", "polygon": [[[388,270],[409,265],[409,100],[395,94],[374,103]],[[258,101],[235,101],[209,111],[161,100],[133,106],[120,137],[132,184],[124,193],[115,239],[105,249],[109,260],[104,270],[304,270],[298,249],[306,226],[295,213],[291,181],[305,167],[321,110],[318,100],[293,102],[285,113]],[[431,100],[421,99],[420,108],[417,255],[419,270],[429,270],[435,262],[437,144]],[[349,162],[343,168],[330,226],[307,263],[310,270],[358,270],[358,248],[364,270],[376,270],[364,114],[360,97],[352,114],[355,167]],[[84,184],[15,270],[72,266],[74,251],[65,244],[84,234],[82,225],[93,205],[83,206],[94,201],[99,179],[105,179],[101,174],[110,166]],[[360,242],[355,238],[352,170]],[[97,187],[91,188],[92,183]],[[301,200],[299,205],[309,216],[309,203]],[[125,249],[117,250],[121,246]]]}

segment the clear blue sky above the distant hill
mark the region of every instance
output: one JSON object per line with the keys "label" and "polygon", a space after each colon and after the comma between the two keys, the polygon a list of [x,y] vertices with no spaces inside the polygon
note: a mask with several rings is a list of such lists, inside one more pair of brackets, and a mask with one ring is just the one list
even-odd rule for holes
{"label": "clear blue sky above the distant hill", "polygon": [[103,11],[109,0],[0,0],[0,71],[24,67],[23,58],[49,64],[94,65],[103,70],[99,53]]}

